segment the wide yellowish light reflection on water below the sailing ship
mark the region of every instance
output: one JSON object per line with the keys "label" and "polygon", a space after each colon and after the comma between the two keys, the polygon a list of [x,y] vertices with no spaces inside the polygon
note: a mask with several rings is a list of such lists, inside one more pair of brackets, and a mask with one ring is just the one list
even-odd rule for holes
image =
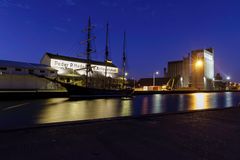
{"label": "wide yellowish light reflection on water below the sailing ship", "polygon": [[86,119],[129,116],[132,114],[132,100],[98,99],[84,101],[46,102],[38,116],[37,123],[53,123]]}

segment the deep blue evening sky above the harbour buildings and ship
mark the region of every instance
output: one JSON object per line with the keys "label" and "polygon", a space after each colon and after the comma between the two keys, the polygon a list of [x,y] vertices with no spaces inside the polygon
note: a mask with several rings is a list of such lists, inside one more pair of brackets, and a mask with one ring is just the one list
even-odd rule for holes
{"label": "deep blue evening sky above the harbour buildings and ship", "polygon": [[0,0],[0,59],[39,63],[45,52],[76,56],[92,17],[97,53],[110,23],[111,58],[121,65],[127,31],[130,77],[163,73],[169,60],[215,48],[216,70],[239,81],[240,2],[235,0]]}

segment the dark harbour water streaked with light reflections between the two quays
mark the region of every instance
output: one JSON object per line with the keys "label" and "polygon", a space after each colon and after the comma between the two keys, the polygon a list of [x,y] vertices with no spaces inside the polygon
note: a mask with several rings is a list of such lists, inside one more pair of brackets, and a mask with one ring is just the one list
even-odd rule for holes
{"label": "dark harbour water streaked with light reflections between the two quays", "polygon": [[70,101],[54,98],[0,102],[0,129],[43,123],[66,122],[153,113],[236,107],[240,93],[141,95],[133,99]]}

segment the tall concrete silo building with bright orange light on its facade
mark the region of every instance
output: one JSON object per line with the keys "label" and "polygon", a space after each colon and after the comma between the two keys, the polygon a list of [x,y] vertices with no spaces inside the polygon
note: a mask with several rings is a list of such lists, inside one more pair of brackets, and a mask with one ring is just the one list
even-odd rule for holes
{"label": "tall concrete silo building with bright orange light on its facade", "polygon": [[[164,69],[165,70],[165,69]],[[192,87],[208,90],[213,88],[214,50],[193,50],[183,60],[168,62],[165,77],[171,78],[173,88]]]}

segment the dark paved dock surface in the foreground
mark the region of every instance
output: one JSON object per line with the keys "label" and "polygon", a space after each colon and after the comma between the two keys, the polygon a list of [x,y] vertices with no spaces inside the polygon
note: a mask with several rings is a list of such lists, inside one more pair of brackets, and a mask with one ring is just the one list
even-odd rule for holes
{"label": "dark paved dock surface in the foreground", "polygon": [[240,108],[0,132],[0,159],[240,159]]}

